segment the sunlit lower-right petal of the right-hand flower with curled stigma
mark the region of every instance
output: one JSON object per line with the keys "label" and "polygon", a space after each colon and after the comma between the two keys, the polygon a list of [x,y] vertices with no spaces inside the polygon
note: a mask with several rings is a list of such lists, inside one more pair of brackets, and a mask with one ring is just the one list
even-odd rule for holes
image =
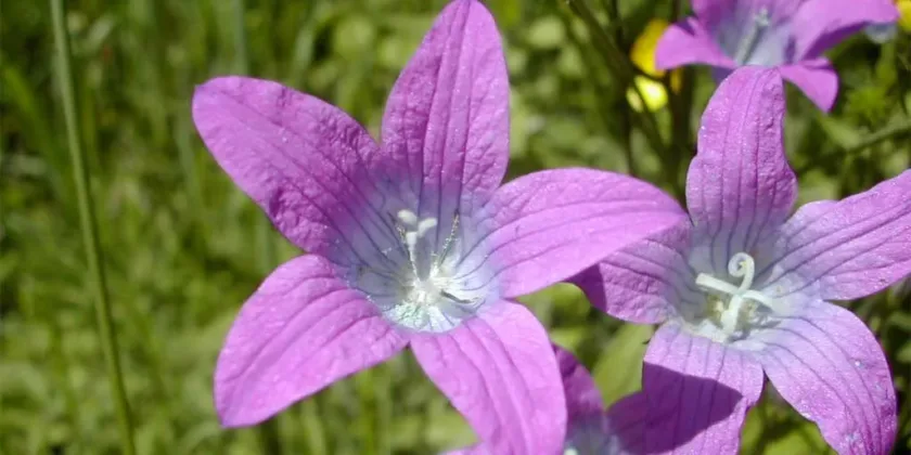
{"label": "sunlit lower-right petal of the right-hand flower with curled stigma", "polygon": [[889,453],[896,400],[876,338],[850,311],[818,301],[762,330],[758,360],[775,389],[841,454]]}

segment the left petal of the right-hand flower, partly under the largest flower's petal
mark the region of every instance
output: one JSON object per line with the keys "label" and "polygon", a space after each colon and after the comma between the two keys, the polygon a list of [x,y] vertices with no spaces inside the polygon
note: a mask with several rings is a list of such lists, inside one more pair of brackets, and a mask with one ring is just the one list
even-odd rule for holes
{"label": "left petal of the right-hand flower, partly under the largest flower's petal", "polygon": [[696,273],[687,262],[690,220],[653,234],[602,260],[570,280],[591,304],[627,322],[656,324],[680,303],[698,304]]}

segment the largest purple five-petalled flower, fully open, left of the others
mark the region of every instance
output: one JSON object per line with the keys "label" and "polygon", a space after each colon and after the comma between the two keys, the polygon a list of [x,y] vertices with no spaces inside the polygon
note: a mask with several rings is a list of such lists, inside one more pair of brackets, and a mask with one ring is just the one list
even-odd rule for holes
{"label": "largest purple five-petalled flower, fully open, left of the others", "polygon": [[269,418],[410,344],[498,453],[563,443],[547,334],[510,300],[679,222],[659,190],[586,169],[500,182],[509,157],[500,36],[472,0],[441,13],[399,76],[382,144],[338,108],[279,83],[206,82],[196,127],[291,242],[244,304],[215,373],[226,426]]}

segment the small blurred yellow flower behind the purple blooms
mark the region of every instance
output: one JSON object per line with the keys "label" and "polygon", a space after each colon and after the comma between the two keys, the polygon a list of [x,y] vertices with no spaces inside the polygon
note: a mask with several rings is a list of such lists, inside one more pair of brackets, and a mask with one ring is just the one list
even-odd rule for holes
{"label": "small blurred yellow flower behind the purple blooms", "polygon": [[[911,2],[911,0],[908,1]],[[629,57],[632,61],[632,64],[652,78],[658,79],[663,78],[665,75],[665,72],[655,67],[655,50],[658,47],[658,40],[668,26],[669,24],[667,21],[657,18],[652,20],[645,26],[645,29],[642,30],[642,35],[640,35],[639,38],[636,39],[636,42],[632,43],[632,49],[630,49],[629,52]],[[639,92],[642,93],[642,98],[645,100],[645,108],[651,112],[655,112],[667,104],[667,90],[665,90],[665,87],[660,82],[652,78],[646,76],[637,76],[636,79],[633,79],[633,83],[636,84],[636,88],[639,89]],[[679,70],[675,70],[670,74],[670,86],[675,92],[680,90]],[[627,102],[637,112],[642,112],[642,103],[640,102],[633,88],[629,88],[627,90]]]}

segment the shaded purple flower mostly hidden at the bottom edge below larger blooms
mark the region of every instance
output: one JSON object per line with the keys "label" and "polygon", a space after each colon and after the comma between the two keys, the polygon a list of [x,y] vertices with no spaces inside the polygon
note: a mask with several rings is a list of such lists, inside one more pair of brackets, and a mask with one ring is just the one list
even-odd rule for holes
{"label": "shaded purple flower mostly hidden at the bottom edge below larger blooms", "polygon": [[[553,347],[566,399],[564,455],[634,455],[642,453],[645,400],[633,393],[604,411],[601,392],[586,367],[569,351]],[[488,444],[448,452],[447,455],[495,455]]]}

